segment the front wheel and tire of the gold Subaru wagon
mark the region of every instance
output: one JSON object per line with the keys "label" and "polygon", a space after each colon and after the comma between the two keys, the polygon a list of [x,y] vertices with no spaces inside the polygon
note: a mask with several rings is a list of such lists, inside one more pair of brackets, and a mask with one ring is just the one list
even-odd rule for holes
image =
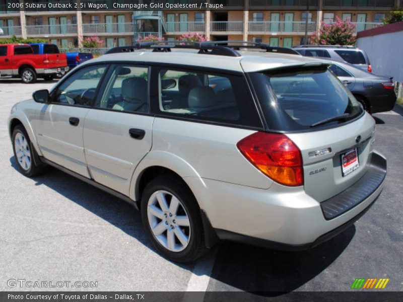
{"label": "front wheel and tire of the gold Subaru wagon", "polygon": [[43,172],[43,164],[35,164],[35,149],[32,148],[27,131],[22,125],[13,130],[13,151],[17,166],[22,174],[27,177],[34,177]]}

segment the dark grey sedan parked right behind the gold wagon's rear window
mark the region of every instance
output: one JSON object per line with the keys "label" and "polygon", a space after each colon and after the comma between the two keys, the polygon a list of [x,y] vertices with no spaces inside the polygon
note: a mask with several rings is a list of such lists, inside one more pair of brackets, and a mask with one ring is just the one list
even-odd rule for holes
{"label": "dark grey sedan parked right behind the gold wagon's rear window", "polygon": [[329,69],[352,92],[369,113],[392,110],[396,103],[393,78],[369,73],[352,64],[325,60],[331,63]]}

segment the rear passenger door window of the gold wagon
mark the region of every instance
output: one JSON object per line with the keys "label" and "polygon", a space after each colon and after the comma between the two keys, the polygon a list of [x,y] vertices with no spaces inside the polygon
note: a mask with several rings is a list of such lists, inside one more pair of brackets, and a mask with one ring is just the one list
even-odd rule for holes
{"label": "rear passenger door window of the gold wagon", "polygon": [[148,67],[114,65],[95,107],[125,112],[149,112]]}

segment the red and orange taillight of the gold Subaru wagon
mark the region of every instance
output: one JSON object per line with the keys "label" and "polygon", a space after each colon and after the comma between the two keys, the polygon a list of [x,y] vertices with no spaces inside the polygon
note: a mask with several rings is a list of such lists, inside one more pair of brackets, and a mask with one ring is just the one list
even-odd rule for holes
{"label": "red and orange taillight of the gold Subaru wagon", "polygon": [[300,149],[281,133],[255,132],[237,145],[242,155],[263,174],[286,186],[302,186]]}

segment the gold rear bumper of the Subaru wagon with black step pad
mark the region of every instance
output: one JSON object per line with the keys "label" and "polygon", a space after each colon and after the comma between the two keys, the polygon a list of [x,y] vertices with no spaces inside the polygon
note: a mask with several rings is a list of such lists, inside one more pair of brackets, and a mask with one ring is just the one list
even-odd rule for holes
{"label": "gold rear bumper of the Subaru wagon with black step pad", "polygon": [[[374,173],[383,173],[376,185],[356,189]],[[302,187],[285,189],[278,184],[263,190],[205,180],[210,198],[202,207],[222,240],[281,250],[307,249],[338,235],[360,218],[380,194],[385,175],[386,160],[373,152],[363,180],[327,201],[328,207],[341,200],[348,205],[331,219],[325,218],[321,203]],[[348,202],[348,197],[364,191],[359,194],[361,198]]]}

